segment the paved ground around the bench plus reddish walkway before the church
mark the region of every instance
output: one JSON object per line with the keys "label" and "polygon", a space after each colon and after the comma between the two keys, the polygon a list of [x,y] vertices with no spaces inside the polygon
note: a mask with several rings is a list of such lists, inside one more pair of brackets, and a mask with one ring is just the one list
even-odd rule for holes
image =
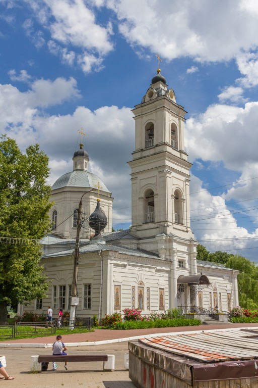
{"label": "paved ground around the bench plus reddish walkway before the church", "polygon": [[[52,344],[55,336],[0,342],[0,347],[2,347],[0,352],[6,356],[7,360],[7,371],[15,377],[13,381],[0,380],[0,388],[7,385],[12,388],[136,388],[129,378],[128,371],[124,368],[124,354],[128,353],[128,338],[159,333],[218,330],[235,327],[257,328],[257,323],[167,327],[144,330],[99,329],[90,333],[63,336],[63,342],[68,345],[69,354],[114,354],[114,372],[103,372],[102,363],[99,362],[70,363],[68,371],[64,370],[62,363],[59,363],[57,371],[47,370],[42,373],[32,373],[30,372],[31,356],[51,354],[51,350],[49,348],[24,348],[22,344],[31,344],[33,347],[37,346],[36,344]],[[101,343],[99,343],[100,341]],[[78,346],[82,342],[87,343],[84,346]],[[7,344],[12,344],[12,347],[3,348]],[[75,346],[75,344],[77,345]]]}

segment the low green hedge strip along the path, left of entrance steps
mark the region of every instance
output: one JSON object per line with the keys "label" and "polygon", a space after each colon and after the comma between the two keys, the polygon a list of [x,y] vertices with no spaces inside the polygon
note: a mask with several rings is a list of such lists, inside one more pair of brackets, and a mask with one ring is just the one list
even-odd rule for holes
{"label": "low green hedge strip along the path, left of entrance steps", "polygon": [[125,321],[119,322],[113,325],[113,329],[118,330],[130,330],[130,329],[149,329],[153,327],[178,327],[178,326],[197,326],[201,325],[199,319],[185,319],[185,318],[174,318],[174,319],[156,319],[156,320],[142,320],[142,321]]}

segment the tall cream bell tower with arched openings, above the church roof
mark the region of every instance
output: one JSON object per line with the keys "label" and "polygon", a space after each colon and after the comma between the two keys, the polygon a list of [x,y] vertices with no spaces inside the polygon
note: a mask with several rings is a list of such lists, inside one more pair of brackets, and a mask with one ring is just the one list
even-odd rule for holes
{"label": "tall cream bell tower with arched openings, above the church roof", "polygon": [[191,238],[189,169],[184,151],[184,108],[176,103],[160,69],[135,115],[131,167],[132,228],[140,238],[174,233]]}

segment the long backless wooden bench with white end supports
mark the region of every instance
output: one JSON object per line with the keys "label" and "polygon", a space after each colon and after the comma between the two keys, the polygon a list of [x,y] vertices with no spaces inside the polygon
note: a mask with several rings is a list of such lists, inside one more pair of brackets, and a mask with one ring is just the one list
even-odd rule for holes
{"label": "long backless wooden bench with white end supports", "polygon": [[41,362],[103,362],[104,371],[113,371],[115,368],[115,356],[113,354],[87,354],[69,356],[31,356],[31,371],[41,370]]}

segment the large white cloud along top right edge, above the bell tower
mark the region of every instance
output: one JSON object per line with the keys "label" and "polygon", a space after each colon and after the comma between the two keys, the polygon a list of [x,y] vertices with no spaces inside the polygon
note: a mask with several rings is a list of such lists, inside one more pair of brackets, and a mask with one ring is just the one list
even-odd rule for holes
{"label": "large white cloud along top right edge, above the bell tower", "polygon": [[109,0],[107,4],[130,44],[148,47],[169,61],[185,56],[227,61],[258,44],[257,13],[243,8],[242,0]]}

